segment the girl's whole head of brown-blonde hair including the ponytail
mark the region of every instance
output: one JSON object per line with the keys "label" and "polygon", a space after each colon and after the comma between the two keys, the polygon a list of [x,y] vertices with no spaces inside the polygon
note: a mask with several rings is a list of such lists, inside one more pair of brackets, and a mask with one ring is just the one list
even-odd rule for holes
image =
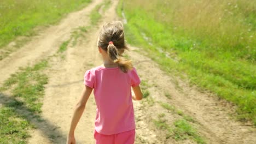
{"label": "girl's whole head of brown-blonde hair including the ponytail", "polygon": [[97,44],[108,53],[109,58],[117,63],[124,73],[127,73],[132,69],[132,63],[122,56],[123,52],[128,49],[124,36],[124,27],[120,21],[107,22],[101,28]]}

